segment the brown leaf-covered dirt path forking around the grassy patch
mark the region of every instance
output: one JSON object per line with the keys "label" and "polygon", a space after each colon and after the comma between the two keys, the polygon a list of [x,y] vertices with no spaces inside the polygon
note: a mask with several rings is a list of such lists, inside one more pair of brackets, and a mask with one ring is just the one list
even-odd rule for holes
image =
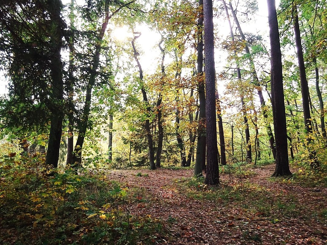
{"label": "brown leaf-covered dirt path forking around the grassy patch", "polygon": [[[176,180],[189,178],[192,170],[116,170],[109,177],[125,183],[129,188],[144,187],[146,203],[131,206],[131,211],[139,215],[151,215],[153,219],[167,221],[170,236],[158,235],[157,244],[327,244],[327,226],[313,215],[313,210],[326,208],[326,188],[304,188],[297,185],[272,182],[267,176],[273,166],[256,168],[257,175],[242,182],[250,182],[265,187],[272,193],[288,197],[308,212],[299,217],[272,220],[261,217],[251,210],[241,207],[237,201],[228,205],[223,201],[195,200],[189,198],[183,189],[176,188]],[[136,174],[148,174],[137,177]],[[229,175],[222,175],[228,183]],[[240,181],[232,177],[232,181]],[[244,205],[243,205],[244,206]]]}

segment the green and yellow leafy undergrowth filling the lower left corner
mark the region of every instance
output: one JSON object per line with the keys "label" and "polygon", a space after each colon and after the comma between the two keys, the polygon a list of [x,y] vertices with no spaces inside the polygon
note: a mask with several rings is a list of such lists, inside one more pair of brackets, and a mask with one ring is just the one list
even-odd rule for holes
{"label": "green and yellow leafy undergrowth filling the lower left corner", "polygon": [[51,170],[43,155],[3,157],[0,244],[152,244],[164,224],[132,213],[135,195],[100,173]]}

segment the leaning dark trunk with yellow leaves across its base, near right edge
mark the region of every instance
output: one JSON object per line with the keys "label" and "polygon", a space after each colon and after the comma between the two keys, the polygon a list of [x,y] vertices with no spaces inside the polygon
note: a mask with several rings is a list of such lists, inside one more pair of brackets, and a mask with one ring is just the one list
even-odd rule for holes
{"label": "leaning dark trunk with yellow leaves across its base, near right edge", "polygon": [[[301,94],[302,94],[302,107],[303,107],[303,116],[304,116],[304,126],[307,133],[307,145],[310,145],[312,139],[311,136],[313,134],[312,131],[312,119],[310,115],[310,106],[309,106],[309,88],[308,88],[308,81],[306,79],[305,74],[305,66],[304,66],[304,59],[303,59],[303,50],[301,44],[301,32],[299,26],[299,17],[297,12],[297,7],[295,6],[293,9],[294,14],[294,34],[295,34],[295,44],[297,47],[297,55],[298,55],[298,62],[299,62],[299,71],[300,71],[300,81],[301,81]],[[309,158],[310,158],[310,165],[313,168],[319,167],[319,162],[317,160],[316,151],[309,149]]]}

